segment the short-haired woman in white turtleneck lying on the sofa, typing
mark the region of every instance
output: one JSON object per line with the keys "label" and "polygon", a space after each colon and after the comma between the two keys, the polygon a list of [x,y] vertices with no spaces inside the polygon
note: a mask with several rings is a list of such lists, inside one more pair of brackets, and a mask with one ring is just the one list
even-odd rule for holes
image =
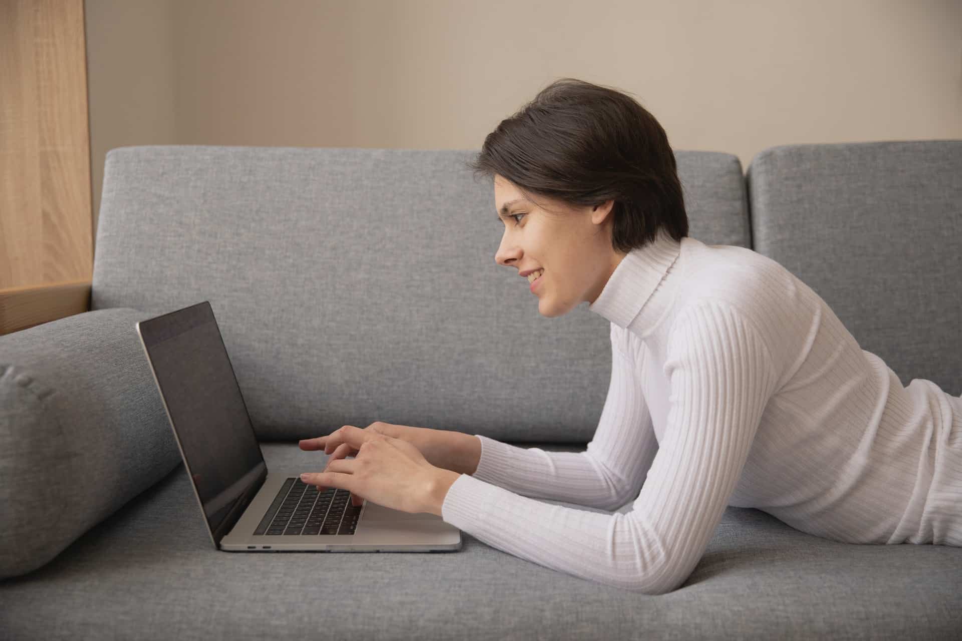
{"label": "short-haired woman in white turtleneck lying on the sofa, typing", "polygon": [[[332,454],[305,482],[646,594],[689,577],[726,505],[837,541],[962,545],[962,399],[903,387],[772,259],[688,237],[668,137],[635,100],[558,81],[472,167],[494,179],[495,260],[533,280],[540,312],[588,302],[611,322],[594,439],[549,453],[345,426],[300,442]],[[626,514],[535,500],[614,510],[634,497]]]}

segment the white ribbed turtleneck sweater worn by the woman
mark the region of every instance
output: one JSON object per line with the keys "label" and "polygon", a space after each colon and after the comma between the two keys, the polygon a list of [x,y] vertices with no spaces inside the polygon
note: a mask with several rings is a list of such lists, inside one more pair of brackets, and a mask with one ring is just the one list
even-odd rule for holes
{"label": "white ribbed turtleneck sweater worn by the woman", "polygon": [[[445,522],[644,594],[688,579],[726,505],[848,543],[962,546],[962,398],[903,387],[822,298],[749,249],[659,234],[589,307],[611,321],[586,452],[481,434]],[[599,513],[537,499],[616,510]]]}

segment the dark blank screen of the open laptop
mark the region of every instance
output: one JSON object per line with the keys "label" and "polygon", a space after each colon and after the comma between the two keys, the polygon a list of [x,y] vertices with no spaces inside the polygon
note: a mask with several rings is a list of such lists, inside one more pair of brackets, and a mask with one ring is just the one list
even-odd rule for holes
{"label": "dark blank screen of the open laptop", "polygon": [[264,456],[209,302],[139,323],[215,544],[266,474]]}

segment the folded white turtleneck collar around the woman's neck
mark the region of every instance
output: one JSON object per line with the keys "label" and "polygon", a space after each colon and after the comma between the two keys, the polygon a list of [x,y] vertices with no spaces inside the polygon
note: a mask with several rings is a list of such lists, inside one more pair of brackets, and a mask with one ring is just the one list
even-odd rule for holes
{"label": "folded white turtleneck collar around the woman's neck", "polygon": [[[622,329],[646,335],[671,303],[665,276],[681,251],[681,242],[659,230],[654,242],[632,249],[588,308]],[[657,291],[656,291],[657,290]]]}

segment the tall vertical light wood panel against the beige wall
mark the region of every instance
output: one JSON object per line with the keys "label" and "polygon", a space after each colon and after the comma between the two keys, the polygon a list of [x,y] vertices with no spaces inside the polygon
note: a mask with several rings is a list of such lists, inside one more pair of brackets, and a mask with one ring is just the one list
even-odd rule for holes
{"label": "tall vertical light wood panel against the beige wall", "polygon": [[0,1],[0,288],[93,274],[83,0]]}

